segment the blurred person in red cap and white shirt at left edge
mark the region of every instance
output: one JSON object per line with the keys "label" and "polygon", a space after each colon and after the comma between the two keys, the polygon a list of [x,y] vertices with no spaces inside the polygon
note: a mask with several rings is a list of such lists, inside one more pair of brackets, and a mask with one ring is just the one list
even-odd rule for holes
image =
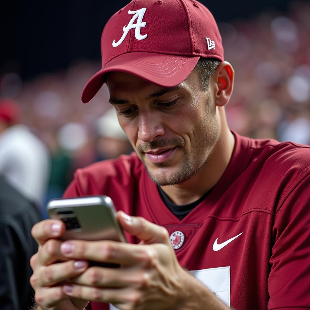
{"label": "blurred person in red cap and white shirt at left edge", "polygon": [[0,173],[20,193],[42,206],[49,178],[46,147],[22,123],[20,106],[0,99]]}

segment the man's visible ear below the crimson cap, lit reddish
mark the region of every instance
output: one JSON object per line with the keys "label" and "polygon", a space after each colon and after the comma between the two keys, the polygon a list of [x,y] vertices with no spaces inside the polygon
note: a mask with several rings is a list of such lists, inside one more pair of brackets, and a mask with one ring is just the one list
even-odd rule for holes
{"label": "man's visible ear below the crimson cap, lit reddish", "polygon": [[214,86],[214,98],[217,106],[222,107],[229,101],[232,94],[234,76],[235,72],[232,65],[227,61],[221,62],[215,69],[210,82]]}

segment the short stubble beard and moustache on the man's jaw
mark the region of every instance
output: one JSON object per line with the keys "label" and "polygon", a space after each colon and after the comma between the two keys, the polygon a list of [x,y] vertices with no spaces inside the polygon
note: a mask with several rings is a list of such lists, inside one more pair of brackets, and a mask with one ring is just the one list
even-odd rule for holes
{"label": "short stubble beard and moustache on the man's jaw", "polygon": [[[205,116],[197,124],[193,132],[193,148],[194,153],[191,158],[190,154],[185,150],[184,141],[178,137],[171,139],[155,140],[151,143],[146,143],[142,147],[138,147],[140,159],[143,162],[150,179],[159,186],[180,184],[190,179],[201,167],[205,166],[208,157],[219,138],[219,122],[215,115],[212,115],[211,96],[208,94],[207,102],[205,105]],[[182,163],[179,169],[169,174],[170,160],[163,163],[153,163],[154,166],[162,168],[159,173],[153,173],[150,167],[145,162],[144,150],[151,150],[156,148],[175,147],[183,150]],[[176,150],[177,150],[176,149]],[[167,167],[167,168],[166,168]]]}

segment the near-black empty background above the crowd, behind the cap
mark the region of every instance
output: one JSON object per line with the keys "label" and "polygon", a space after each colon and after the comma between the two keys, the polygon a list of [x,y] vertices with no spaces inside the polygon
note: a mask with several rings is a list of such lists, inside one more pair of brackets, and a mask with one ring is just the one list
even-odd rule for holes
{"label": "near-black empty background above the crowd, behind the cap", "polygon": [[[288,0],[201,2],[217,22],[249,18],[270,8],[286,12],[289,3]],[[28,79],[67,68],[75,61],[99,60],[102,29],[108,18],[127,3],[127,0],[2,1],[0,75],[13,71]]]}

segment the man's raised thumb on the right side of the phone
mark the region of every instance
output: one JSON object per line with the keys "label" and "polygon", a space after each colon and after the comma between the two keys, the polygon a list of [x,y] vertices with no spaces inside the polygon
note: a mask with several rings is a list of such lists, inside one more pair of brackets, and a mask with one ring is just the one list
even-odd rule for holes
{"label": "man's raised thumb on the right side of the phone", "polygon": [[169,233],[166,228],[153,224],[143,217],[129,216],[123,211],[117,212],[117,220],[123,230],[139,238],[144,244],[170,244]]}

